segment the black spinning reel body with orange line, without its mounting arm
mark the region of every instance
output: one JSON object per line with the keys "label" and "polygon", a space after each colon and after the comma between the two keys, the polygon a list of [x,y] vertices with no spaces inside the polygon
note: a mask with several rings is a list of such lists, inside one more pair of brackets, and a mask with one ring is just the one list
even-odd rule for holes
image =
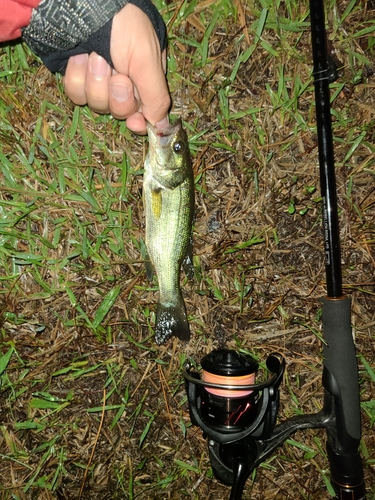
{"label": "black spinning reel body with orange line, without its mounting arm", "polygon": [[212,351],[201,366],[202,379],[189,363],[184,368],[191,421],[208,439],[215,476],[233,485],[231,499],[241,498],[262,456],[261,440],[275,427],[285,361],[270,354],[266,366],[272,376],[259,383],[257,361],[233,350]]}

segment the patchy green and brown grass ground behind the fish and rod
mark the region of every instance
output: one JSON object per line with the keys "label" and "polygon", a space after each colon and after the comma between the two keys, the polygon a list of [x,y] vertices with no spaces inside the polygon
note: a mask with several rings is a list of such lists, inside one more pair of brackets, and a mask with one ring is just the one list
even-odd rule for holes
{"label": "patchy green and brown grass ground behind the fish and rod", "polygon": [[[322,405],[325,293],[307,2],[158,1],[196,173],[193,340],[153,341],[147,142],[74,107],[22,44],[0,49],[0,497],[225,499],[181,367],[223,345],[287,359],[280,417]],[[368,497],[374,445],[374,6],[327,2],[346,293]],[[325,436],[299,432],[244,499],[330,498]]]}

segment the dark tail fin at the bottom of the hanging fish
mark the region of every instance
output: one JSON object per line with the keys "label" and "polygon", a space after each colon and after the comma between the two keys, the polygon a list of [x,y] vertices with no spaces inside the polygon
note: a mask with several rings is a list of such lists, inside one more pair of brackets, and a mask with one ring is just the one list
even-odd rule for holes
{"label": "dark tail fin at the bottom of the hanging fish", "polygon": [[163,344],[169,337],[190,340],[189,323],[182,297],[177,305],[158,304],[156,310],[155,341]]}

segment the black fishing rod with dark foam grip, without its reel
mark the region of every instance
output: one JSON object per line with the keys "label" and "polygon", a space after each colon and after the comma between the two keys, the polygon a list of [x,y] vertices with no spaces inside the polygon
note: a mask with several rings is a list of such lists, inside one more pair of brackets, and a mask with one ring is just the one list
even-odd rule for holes
{"label": "black fishing rod with dark foam grip, without its reel", "polygon": [[333,406],[335,421],[327,427],[331,481],[339,499],[363,499],[365,487],[359,455],[361,416],[358,367],[350,322],[351,301],[343,295],[341,252],[329,83],[336,79],[327,54],[323,0],[310,0],[311,39],[327,295],[323,303],[324,406]]}

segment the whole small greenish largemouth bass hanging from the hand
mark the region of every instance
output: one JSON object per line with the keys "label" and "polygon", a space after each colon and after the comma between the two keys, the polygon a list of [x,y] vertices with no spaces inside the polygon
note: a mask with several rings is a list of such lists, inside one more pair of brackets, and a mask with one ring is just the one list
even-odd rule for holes
{"label": "whole small greenish largemouth bass hanging from the hand", "polygon": [[[164,129],[148,125],[149,149],[145,161],[143,197],[146,247],[159,284],[155,340],[189,340],[190,330],[180,290],[180,270],[192,270],[191,231],[194,211],[194,176],[189,144],[178,121]],[[190,253],[190,255],[189,255]],[[185,259],[185,260],[184,260]],[[190,262],[189,262],[190,261]]]}

